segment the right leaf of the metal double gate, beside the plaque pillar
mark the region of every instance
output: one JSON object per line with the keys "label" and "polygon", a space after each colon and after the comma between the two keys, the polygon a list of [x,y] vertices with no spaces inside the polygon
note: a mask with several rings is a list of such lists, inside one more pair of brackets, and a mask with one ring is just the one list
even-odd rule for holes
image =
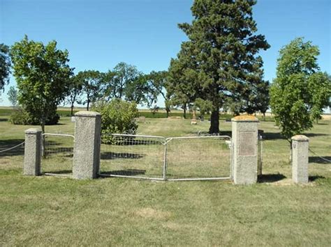
{"label": "right leaf of the metal double gate, beside the plaque pillar", "polygon": [[231,138],[167,138],[167,180],[220,180],[231,177]]}

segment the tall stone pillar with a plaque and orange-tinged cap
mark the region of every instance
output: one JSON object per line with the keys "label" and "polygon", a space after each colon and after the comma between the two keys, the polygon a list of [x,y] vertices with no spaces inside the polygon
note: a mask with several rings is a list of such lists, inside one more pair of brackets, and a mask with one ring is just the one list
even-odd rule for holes
{"label": "tall stone pillar with a plaque and orange-tinged cap", "polygon": [[233,180],[255,184],[258,180],[258,119],[238,115],[232,119]]}

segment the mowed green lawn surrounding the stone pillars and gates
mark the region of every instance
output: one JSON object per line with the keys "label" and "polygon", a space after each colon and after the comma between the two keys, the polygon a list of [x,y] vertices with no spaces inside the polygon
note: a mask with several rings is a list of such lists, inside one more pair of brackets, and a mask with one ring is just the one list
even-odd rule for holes
{"label": "mowed green lawn surrounding the stone pillars and gates", "polygon": [[[6,118],[0,116],[0,150],[23,141],[29,128]],[[147,118],[138,133],[194,136],[208,127],[207,121],[192,126]],[[220,127],[230,134],[230,122]],[[330,246],[331,164],[310,153],[310,182],[295,185],[288,141],[274,122],[260,122],[259,129],[265,132],[263,177],[252,186],[27,177],[22,148],[0,153],[0,245]],[[311,150],[325,159],[331,159],[330,130],[330,121],[321,121],[306,133]],[[73,123],[61,118],[46,132],[73,134]]]}

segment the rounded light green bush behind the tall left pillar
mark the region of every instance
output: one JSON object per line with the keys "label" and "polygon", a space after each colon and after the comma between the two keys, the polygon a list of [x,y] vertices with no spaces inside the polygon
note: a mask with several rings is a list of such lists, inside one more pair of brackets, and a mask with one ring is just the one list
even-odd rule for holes
{"label": "rounded light green bush behind the tall left pillar", "polygon": [[101,113],[101,141],[112,143],[110,134],[135,134],[138,128],[135,118],[138,117],[137,104],[122,99],[110,102],[100,100],[92,106],[93,111]]}

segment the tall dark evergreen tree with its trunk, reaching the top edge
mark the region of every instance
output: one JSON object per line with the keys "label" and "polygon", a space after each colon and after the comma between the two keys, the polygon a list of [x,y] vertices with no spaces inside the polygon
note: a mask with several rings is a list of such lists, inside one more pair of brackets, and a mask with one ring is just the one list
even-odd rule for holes
{"label": "tall dark evergreen tree with its trunk, reaching the top edge", "polygon": [[[189,40],[182,43],[177,59],[184,83],[196,96],[212,102],[210,133],[219,132],[219,109],[263,77],[260,49],[270,46],[256,35],[252,17],[255,0],[195,0],[191,24],[179,24]],[[172,66],[170,65],[170,71]]]}

